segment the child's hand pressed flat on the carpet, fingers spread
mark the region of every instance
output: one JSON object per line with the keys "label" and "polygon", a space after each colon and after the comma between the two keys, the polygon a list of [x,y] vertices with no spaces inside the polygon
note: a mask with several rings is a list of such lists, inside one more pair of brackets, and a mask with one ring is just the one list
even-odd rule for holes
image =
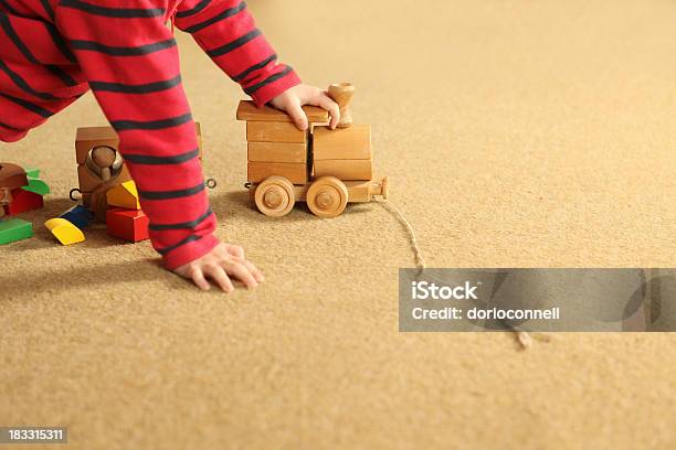
{"label": "child's hand pressed flat on the carpet, fingers spread", "polygon": [[228,293],[234,291],[230,277],[235,277],[249,289],[257,287],[264,280],[263,274],[244,258],[244,249],[230,244],[219,244],[200,259],[188,262],[173,271],[183,278],[191,279],[202,290],[211,288],[207,280],[211,279]]}

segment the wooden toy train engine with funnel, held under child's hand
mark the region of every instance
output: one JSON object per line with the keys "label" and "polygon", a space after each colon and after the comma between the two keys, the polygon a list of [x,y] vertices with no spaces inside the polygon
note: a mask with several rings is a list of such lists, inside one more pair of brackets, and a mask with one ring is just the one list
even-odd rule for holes
{"label": "wooden toy train engine with funnel, held under child's hand", "polygon": [[246,120],[246,186],[258,210],[271,217],[288,214],[306,202],[318,217],[340,215],[348,202],[387,199],[388,178],[373,178],[371,126],[353,125],[349,105],[355,87],[329,87],[340,106],[341,119],[331,130],[328,113],[306,106],[309,128],[300,131],[285,114],[241,101],[237,119]]}

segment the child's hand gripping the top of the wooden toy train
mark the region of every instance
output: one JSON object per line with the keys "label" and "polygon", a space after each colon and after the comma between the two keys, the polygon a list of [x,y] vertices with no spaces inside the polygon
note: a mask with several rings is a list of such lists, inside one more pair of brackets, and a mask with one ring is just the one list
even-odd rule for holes
{"label": "child's hand gripping the top of the wooden toy train", "polygon": [[303,131],[307,130],[307,116],[302,108],[304,105],[318,106],[329,111],[331,115],[331,121],[329,124],[331,129],[336,129],[340,120],[340,108],[338,108],[338,104],[331,100],[326,90],[321,90],[314,86],[294,86],[282,95],[273,98],[271,104],[275,108],[286,111],[286,114],[294,119],[294,122],[296,122],[296,127]]}

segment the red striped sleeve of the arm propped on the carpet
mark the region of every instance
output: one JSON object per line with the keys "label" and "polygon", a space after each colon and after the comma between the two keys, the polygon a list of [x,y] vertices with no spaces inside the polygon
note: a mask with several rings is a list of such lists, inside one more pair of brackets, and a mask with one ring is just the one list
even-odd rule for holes
{"label": "red striped sleeve of the arm propped on the carpet", "polygon": [[165,17],[160,0],[62,0],[55,10],[59,31],[119,133],[152,246],[175,269],[205,255],[218,239]]}

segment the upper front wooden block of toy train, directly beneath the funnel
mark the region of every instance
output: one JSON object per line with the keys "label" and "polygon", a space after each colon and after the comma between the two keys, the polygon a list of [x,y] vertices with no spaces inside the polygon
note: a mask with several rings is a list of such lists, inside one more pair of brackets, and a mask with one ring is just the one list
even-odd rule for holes
{"label": "upper front wooden block of toy train, directly beneath the funnel", "polygon": [[331,130],[315,127],[313,157],[317,160],[371,159],[371,126],[353,125]]}

